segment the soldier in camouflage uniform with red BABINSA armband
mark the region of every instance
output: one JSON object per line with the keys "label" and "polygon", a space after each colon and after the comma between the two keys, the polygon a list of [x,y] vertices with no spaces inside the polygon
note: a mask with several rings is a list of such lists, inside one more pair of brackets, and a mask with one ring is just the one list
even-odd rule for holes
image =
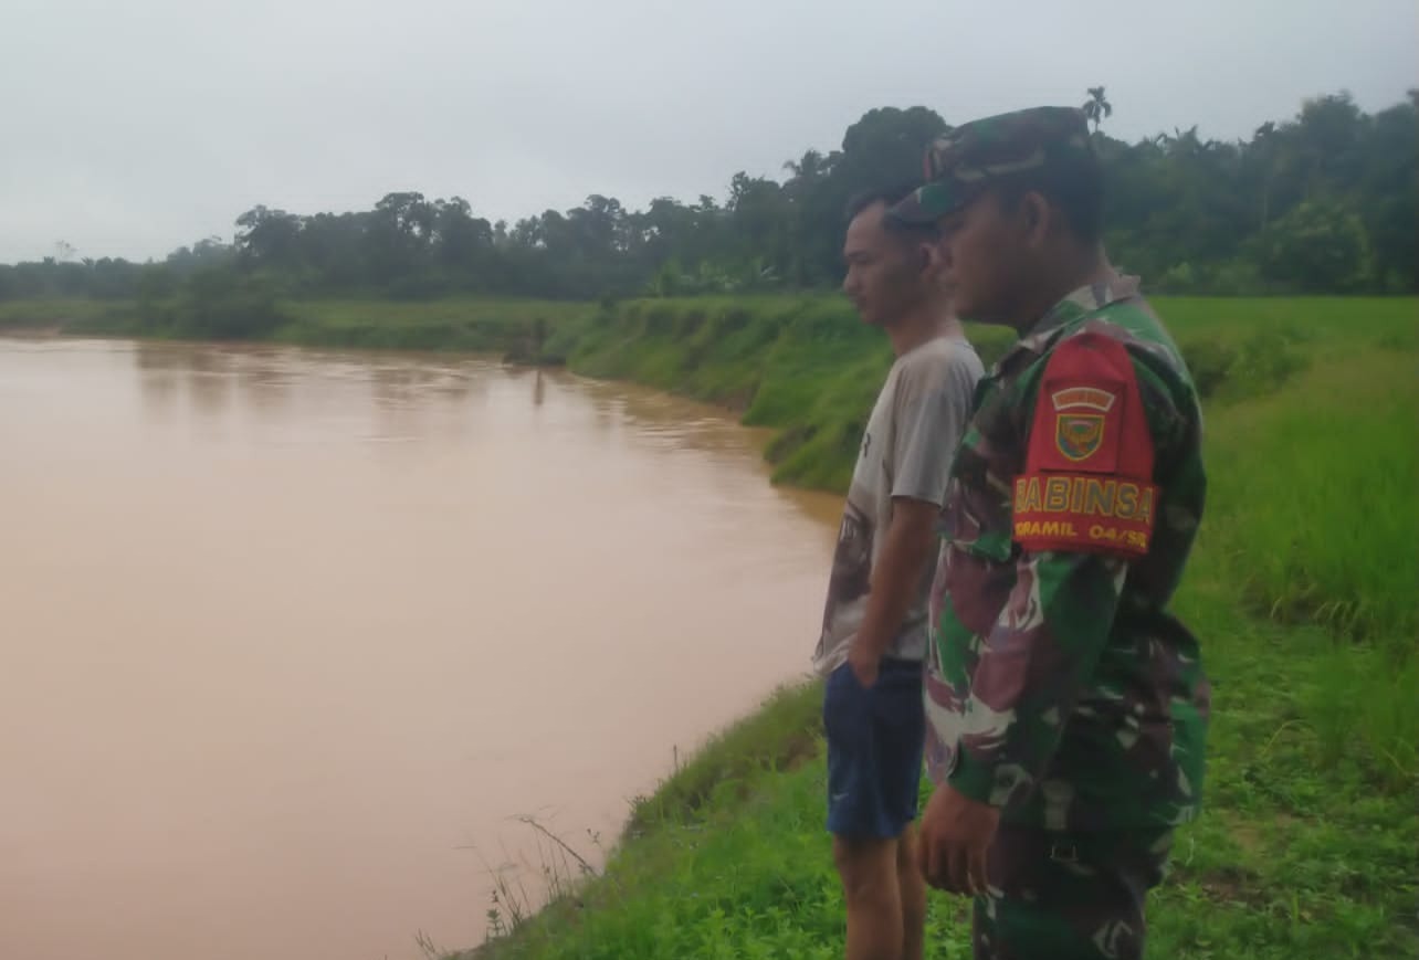
{"label": "soldier in camouflage uniform with red BABINSA armband", "polygon": [[1196,391],[1104,254],[1080,111],[956,128],[891,216],[938,225],[962,318],[1020,333],[942,510],[922,872],[975,896],[978,959],[1139,957],[1202,790],[1209,686],[1168,613],[1206,486]]}

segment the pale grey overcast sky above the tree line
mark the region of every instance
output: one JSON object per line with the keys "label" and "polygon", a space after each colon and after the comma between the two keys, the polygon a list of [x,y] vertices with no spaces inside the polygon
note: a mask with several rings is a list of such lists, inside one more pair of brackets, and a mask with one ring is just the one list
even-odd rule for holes
{"label": "pale grey overcast sky above the tree line", "polygon": [[1419,85],[1415,0],[0,0],[0,262],[162,258],[264,203],[509,221],[722,199],[874,106],[1249,136]]}

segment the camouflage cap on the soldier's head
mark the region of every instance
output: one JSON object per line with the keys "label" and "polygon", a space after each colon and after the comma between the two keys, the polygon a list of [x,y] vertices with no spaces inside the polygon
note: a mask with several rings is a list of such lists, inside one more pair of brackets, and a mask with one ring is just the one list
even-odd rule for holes
{"label": "camouflage cap on the soldier's head", "polygon": [[971,121],[927,149],[925,184],[888,216],[902,223],[931,223],[1006,177],[1081,162],[1097,160],[1084,111],[1076,106],[1032,106]]}

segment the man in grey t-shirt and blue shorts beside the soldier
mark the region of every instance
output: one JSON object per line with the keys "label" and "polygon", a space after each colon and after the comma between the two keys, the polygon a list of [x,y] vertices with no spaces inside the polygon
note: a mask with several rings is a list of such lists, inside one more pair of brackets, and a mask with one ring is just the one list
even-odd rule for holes
{"label": "man in grey t-shirt and blue shorts beside the soldier", "polygon": [[951,312],[931,230],[897,228],[888,190],[850,208],[843,289],[897,355],[861,437],[813,665],[827,679],[827,828],[847,960],[921,957],[912,856],[925,719],[921,669],[935,523],[983,370]]}

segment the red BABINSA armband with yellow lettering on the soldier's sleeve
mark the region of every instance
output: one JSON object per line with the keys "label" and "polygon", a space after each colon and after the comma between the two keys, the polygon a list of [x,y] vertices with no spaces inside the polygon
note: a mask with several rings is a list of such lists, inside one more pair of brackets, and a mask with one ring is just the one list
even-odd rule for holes
{"label": "red BABINSA armband with yellow lettering on the soldier's sleeve", "polygon": [[1154,448],[1128,350],[1103,333],[1060,342],[1040,380],[1025,474],[1015,479],[1015,540],[1026,550],[1142,556],[1158,488]]}

